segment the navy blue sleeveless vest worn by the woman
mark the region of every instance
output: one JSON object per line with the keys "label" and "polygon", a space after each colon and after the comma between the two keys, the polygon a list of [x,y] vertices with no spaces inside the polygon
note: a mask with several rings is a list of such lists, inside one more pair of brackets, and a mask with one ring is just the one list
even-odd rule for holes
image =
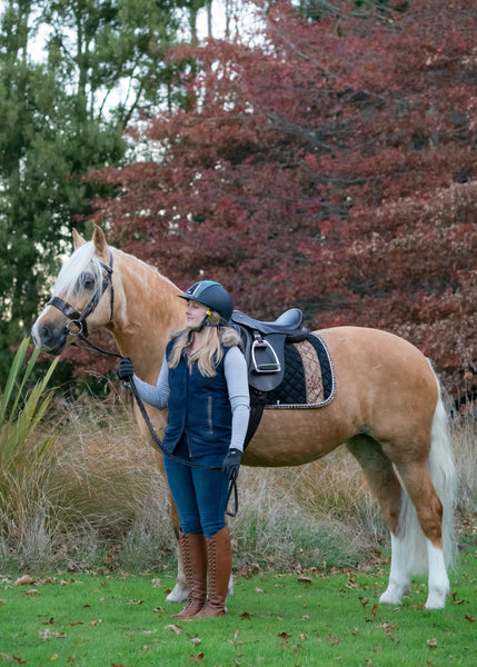
{"label": "navy blue sleeveless vest worn by the woman", "polygon": [[[167,347],[169,356],[173,340]],[[231,438],[232,412],[227,390],[223,357],[212,378],[203,377],[197,362],[189,370],[182,355],[176,368],[169,368],[169,401],[163,446],[173,451],[182,435],[190,457],[220,465]]]}

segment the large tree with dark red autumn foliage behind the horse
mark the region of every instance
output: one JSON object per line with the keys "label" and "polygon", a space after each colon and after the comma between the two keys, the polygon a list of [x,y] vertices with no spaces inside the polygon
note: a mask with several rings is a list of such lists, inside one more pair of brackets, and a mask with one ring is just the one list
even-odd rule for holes
{"label": "large tree with dark red autumn foliage behind the horse", "polygon": [[257,317],[300,306],[312,327],[403,335],[450,388],[477,352],[477,14],[340,8],[307,22],[274,3],[256,46],[172,51],[201,66],[189,107],[148,125],[157,161],[95,175],[118,186],[96,219]]}

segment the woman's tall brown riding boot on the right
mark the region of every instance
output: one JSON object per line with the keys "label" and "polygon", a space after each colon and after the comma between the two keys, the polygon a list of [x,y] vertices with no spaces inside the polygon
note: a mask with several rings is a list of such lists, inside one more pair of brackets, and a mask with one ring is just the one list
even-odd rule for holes
{"label": "woman's tall brown riding boot on the right", "polygon": [[203,608],[195,618],[213,618],[226,613],[226,597],[232,569],[230,530],[226,526],[213,537],[206,537],[209,595]]}

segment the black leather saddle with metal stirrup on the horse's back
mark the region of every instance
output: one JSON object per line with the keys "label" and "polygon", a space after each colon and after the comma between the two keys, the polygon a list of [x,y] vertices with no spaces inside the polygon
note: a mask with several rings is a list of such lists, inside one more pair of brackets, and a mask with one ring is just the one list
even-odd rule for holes
{"label": "black leather saddle with metal stirrup on the horse's back", "polygon": [[286,310],[272,322],[233,310],[231,322],[242,339],[250,387],[266,392],[280,385],[285,375],[285,342],[306,338],[308,330],[302,321],[299,308]]}

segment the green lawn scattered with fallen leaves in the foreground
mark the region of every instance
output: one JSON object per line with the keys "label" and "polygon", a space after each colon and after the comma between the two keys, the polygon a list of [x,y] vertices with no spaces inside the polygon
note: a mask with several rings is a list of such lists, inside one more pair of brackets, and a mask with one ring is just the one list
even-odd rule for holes
{"label": "green lawn scattered with fallen leaves in the foreground", "polygon": [[[443,610],[425,579],[400,607],[380,605],[388,568],[332,576],[240,577],[223,618],[176,624],[168,575],[57,575],[0,584],[0,665],[181,667],[475,664],[477,550],[451,573]],[[160,577],[160,579],[159,579]],[[300,578],[302,580],[300,580]],[[307,580],[309,579],[309,580]]]}

